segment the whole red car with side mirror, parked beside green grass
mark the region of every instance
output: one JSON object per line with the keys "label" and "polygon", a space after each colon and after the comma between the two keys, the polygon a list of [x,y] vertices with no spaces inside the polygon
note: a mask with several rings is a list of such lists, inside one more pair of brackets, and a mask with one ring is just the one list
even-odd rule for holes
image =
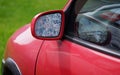
{"label": "whole red car with side mirror, parked beside green grass", "polygon": [[8,40],[2,75],[120,75],[120,19],[96,15],[109,5],[120,13],[120,0],[69,0],[36,15]]}

